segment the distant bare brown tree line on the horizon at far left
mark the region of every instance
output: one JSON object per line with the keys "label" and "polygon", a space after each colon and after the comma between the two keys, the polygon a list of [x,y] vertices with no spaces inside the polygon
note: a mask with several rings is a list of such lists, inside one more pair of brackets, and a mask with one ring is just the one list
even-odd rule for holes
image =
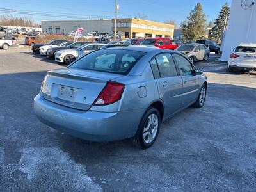
{"label": "distant bare brown tree line on the horizon at far left", "polygon": [[39,27],[32,18],[12,17],[11,15],[0,15],[0,25],[2,26],[21,26],[21,27]]}

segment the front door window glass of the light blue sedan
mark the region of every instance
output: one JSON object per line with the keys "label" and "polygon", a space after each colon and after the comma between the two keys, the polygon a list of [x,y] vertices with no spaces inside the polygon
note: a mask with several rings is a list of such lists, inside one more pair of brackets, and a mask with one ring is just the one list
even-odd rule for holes
{"label": "front door window glass of the light blue sedan", "polygon": [[184,56],[181,56],[179,54],[173,54],[173,57],[175,58],[175,61],[177,62],[179,69],[180,69],[180,74],[182,76],[186,75],[191,75],[193,72],[193,67],[191,63],[189,63]]}

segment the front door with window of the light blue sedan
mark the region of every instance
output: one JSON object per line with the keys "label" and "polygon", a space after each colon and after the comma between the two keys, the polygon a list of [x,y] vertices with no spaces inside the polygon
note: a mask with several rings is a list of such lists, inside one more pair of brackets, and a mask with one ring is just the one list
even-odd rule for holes
{"label": "front door with window of the light blue sedan", "polygon": [[199,77],[194,75],[193,65],[184,56],[173,53],[173,58],[183,81],[182,105],[185,107],[193,104],[198,97]]}

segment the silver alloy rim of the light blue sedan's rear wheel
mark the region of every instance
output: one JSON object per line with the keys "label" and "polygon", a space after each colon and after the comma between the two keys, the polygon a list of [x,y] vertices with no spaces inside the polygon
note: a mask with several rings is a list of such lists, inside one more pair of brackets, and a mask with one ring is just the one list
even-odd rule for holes
{"label": "silver alloy rim of the light blue sedan's rear wheel", "polygon": [[156,138],[159,125],[158,121],[158,117],[155,113],[152,113],[148,116],[143,129],[143,140],[145,143],[152,143],[154,138]]}

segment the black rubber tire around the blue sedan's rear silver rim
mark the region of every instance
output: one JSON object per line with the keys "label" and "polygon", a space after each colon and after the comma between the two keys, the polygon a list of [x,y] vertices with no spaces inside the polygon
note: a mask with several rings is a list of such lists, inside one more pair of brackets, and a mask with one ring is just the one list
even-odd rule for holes
{"label": "black rubber tire around the blue sedan's rear silver rim", "polygon": [[[152,141],[150,141],[149,143],[147,143],[145,141],[145,139],[147,140],[147,136],[144,138],[143,134],[145,132],[150,132],[152,131],[153,132],[153,129],[152,127],[150,126],[150,128],[148,129],[148,131],[145,131],[144,132],[144,128],[145,128],[145,125],[148,125],[148,117],[153,115],[154,117],[157,117],[157,123],[156,121],[154,123],[157,124],[157,129],[156,129],[156,132],[154,133],[154,138]],[[134,135],[134,137],[131,138],[131,142],[133,145],[135,145],[136,147],[139,147],[139,148],[143,148],[143,149],[146,149],[146,148],[149,148],[151,147],[154,142],[156,141],[156,138],[158,136],[158,133],[159,133],[159,128],[160,128],[160,123],[161,123],[161,118],[160,118],[160,114],[159,114],[159,111],[156,109],[156,108],[148,108],[148,110],[146,111],[146,113],[143,115],[143,117],[141,118],[141,122],[140,122],[140,125],[137,129],[137,132],[136,134]],[[153,125],[154,126],[154,125]],[[152,129],[152,130],[151,130]],[[153,134],[153,133],[152,133]]]}

